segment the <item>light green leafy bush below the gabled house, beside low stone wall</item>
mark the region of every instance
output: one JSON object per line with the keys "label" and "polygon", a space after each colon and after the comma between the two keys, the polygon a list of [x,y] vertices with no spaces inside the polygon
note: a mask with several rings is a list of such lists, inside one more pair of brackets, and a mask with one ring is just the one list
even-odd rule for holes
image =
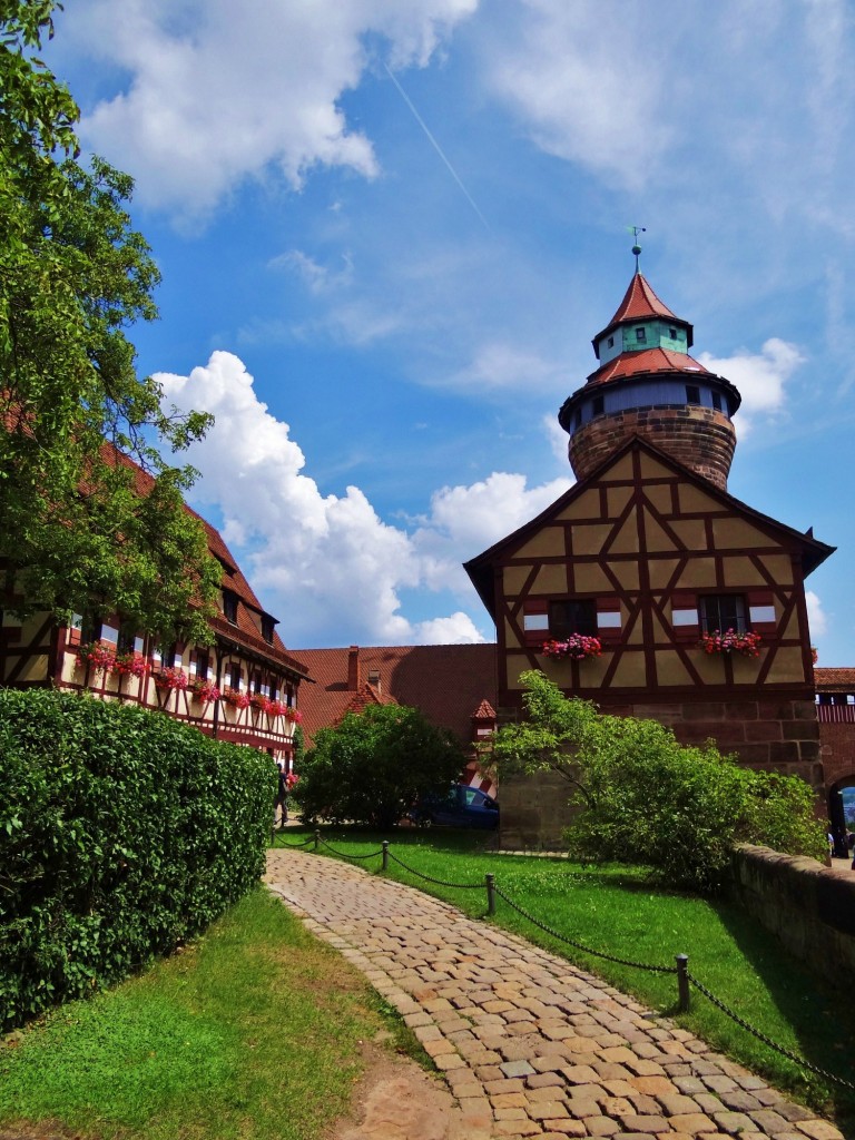
{"label": "light green leafy bush below the gabled house, beside low stone wall", "polygon": [[568,781],[572,854],[648,864],[705,893],[720,887],[736,842],[822,857],[813,791],[798,776],[741,767],[711,742],[681,746],[657,720],[603,716],[537,670],[521,679],[527,719],[499,730],[494,758],[499,777],[551,769]]}

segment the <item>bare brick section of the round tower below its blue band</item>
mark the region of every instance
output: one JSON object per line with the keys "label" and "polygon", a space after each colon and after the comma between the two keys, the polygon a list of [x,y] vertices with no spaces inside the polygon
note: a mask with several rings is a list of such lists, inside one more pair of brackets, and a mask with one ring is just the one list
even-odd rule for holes
{"label": "bare brick section of the round tower below its blue band", "polygon": [[697,405],[652,407],[597,416],[570,437],[570,463],[578,479],[585,479],[632,435],[642,435],[656,447],[727,490],[736,437],[733,424],[720,412]]}

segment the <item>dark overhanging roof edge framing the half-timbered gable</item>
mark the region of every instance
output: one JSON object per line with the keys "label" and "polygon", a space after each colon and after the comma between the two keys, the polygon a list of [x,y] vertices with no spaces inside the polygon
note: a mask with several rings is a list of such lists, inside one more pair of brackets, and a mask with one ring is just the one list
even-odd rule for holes
{"label": "dark overhanging roof edge framing the half-timbered gable", "polygon": [[834,553],[837,547],[829,546],[826,543],[821,543],[819,539],[813,537],[813,528],[808,530],[807,534],[803,534],[801,531],[795,530],[792,527],[788,527],[783,522],[777,522],[767,514],[762,514],[759,511],[755,511],[754,507],[742,503],[741,499],[734,498],[734,496],[728,495],[727,491],[719,490],[706,479],[702,479],[693,471],[690,471],[689,467],[684,467],[682,463],[678,463],[666,451],[662,451],[658,447],[648,442],[646,439],[643,439],[641,435],[632,435],[621,448],[608,456],[608,458],[605,458],[598,467],[592,471],[586,479],[580,479],[579,482],[575,483],[570,490],[564,491],[563,495],[547,506],[545,511],[542,511],[535,519],[531,519],[530,522],[523,523],[522,527],[519,527],[505,538],[499,539],[498,543],[494,543],[492,546],[488,547],[488,549],[483,551],[481,554],[478,554],[475,557],[470,559],[469,562],[463,563],[463,569],[470,576],[473,586],[478,591],[481,601],[494,620],[496,617],[496,598],[494,596],[495,564],[500,562],[503,557],[506,557],[511,549],[519,546],[531,535],[536,534],[556,514],[564,511],[568,505],[573,502],[573,499],[578,498],[578,496],[583,495],[588,487],[595,483],[609,467],[618,463],[628,451],[635,449],[649,451],[659,463],[663,466],[670,467],[673,471],[678,473],[681,478],[702,490],[705,495],[717,499],[727,510],[741,514],[756,526],[763,527],[766,531],[774,535],[776,540],[785,543],[788,546],[792,546],[798,549],[801,555],[801,565],[805,577],[815,570],[817,565],[824,562],[830,554]]}

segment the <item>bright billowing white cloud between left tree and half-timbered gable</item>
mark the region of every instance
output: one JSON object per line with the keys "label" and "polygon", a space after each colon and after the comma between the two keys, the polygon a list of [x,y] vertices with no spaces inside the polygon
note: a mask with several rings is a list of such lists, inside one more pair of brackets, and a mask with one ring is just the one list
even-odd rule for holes
{"label": "bright billowing white cloud between left tree and half-timbered gable", "polygon": [[527,522],[568,487],[527,488],[523,475],[494,473],[472,487],[446,487],[414,534],[383,522],[358,487],[323,496],[303,474],[306,458],[255,396],[230,352],[214,352],[189,376],[156,376],[165,400],[211,412],[215,424],[189,462],[202,473],[194,502],[215,506],[226,542],[282,619],[286,644],[412,644],[482,641],[462,610],[409,620],[401,593],[451,589],[480,602],[461,562]]}

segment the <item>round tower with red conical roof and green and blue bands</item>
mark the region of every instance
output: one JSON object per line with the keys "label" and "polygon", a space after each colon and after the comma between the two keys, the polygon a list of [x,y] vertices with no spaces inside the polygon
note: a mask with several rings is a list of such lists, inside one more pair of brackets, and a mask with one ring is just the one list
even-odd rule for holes
{"label": "round tower with red conical roof and green and blue bands", "polygon": [[741,397],[689,355],[692,326],[662,304],[638,271],[641,250],[633,252],[629,288],[592,342],[600,366],[559,412],[570,464],[585,479],[641,435],[726,491],[736,446],[731,417]]}

